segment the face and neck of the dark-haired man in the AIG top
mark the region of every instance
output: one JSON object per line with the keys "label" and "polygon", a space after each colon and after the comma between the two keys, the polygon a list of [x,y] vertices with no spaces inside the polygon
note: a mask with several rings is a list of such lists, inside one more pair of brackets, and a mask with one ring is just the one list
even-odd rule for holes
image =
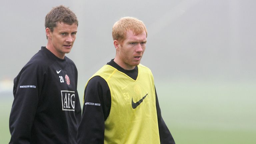
{"label": "face and neck of the dark-haired man in the AIG top", "polygon": [[51,39],[50,51],[59,58],[64,58],[66,53],[69,53],[76,39],[77,25],[65,24],[63,22],[57,22],[57,26],[53,31],[50,31]]}

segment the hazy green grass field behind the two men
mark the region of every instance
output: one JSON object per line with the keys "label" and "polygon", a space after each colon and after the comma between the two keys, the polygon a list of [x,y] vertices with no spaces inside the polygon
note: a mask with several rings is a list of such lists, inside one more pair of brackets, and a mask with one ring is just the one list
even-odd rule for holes
{"label": "hazy green grass field behind the two men", "polygon": [[[177,144],[255,144],[255,88],[250,82],[156,81],[162,116]],[[1,97],[1,144],[10,139],[12,97]]]}

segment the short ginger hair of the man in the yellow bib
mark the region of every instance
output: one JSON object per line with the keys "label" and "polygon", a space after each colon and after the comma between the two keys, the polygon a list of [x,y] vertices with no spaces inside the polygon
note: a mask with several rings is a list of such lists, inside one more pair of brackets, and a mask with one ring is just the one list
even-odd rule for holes
{"label": "short ginger hair of the man in the yellow bib", "polygon": [[143,31],[147,34],[147,28],[142,21],[134,17],[123,17],[117,21],[112,28],[113,40],[120,40],[121,42],[126,38],[126,32],[133,31],[134,34],[140,34]]}

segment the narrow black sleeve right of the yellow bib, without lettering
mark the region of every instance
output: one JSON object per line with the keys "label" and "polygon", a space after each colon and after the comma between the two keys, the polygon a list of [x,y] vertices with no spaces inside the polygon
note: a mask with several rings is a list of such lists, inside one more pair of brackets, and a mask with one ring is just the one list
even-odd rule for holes
{"label": "narrow black sleeve right of the yellow bib, without lettering", "polygon": [[[156,93],[156,88],[155,88]],[[156,94],[156,111],[157,111],[157,120],[158,120],[158,128],[159,128],[159,136],[160,136],[160,143],[161,144],[175,144],[174,139],[166,126],[162,115],[161,115],[161,109],[158,103],[158,98]]]}

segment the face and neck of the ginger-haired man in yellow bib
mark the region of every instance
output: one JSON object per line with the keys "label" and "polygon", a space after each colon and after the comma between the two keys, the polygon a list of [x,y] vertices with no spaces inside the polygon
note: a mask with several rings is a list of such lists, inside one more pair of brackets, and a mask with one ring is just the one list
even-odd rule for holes
{"label": "face and neck of the ginger-haired man in yellow bib", "polygon": [[146,32],[135,35],[131,30],[127,31],[126,39],[122,44],[119,44],[117,57],[119,64],[126,70],[134,69],[135,66],[140,64],[142,55],[146,49]]}

